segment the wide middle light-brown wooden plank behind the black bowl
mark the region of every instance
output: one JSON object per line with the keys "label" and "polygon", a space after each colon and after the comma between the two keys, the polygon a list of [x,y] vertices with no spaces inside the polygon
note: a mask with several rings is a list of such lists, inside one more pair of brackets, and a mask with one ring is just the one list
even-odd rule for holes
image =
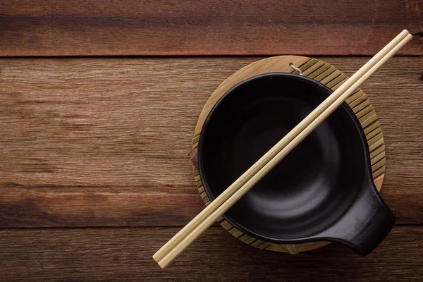
{"label": "wide middle light-brown wooden plank behind the black bowl", "polygon": [[[367,58],[319,58],[345,75]],[[182,226],[201,209],[188,153],[202,106],[257,58],[0,60],[0,226]],[[386,145],[381,194],[423,223],[423,58],[362,89]],[[400,102],[399,102],[400,101]]]}

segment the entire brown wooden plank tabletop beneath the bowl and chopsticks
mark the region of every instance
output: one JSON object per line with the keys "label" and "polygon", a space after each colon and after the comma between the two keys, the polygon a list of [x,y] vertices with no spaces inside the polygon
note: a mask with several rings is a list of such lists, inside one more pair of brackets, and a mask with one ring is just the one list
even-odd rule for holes
{"label": "entire brown wooden plank tabletop beneath the bowl and chopsticks", "polygon": [[[203,209],[188,152],[228,75],[275,54],[351,75],[404,28],[362,87],[398,217],[371,255],[257,250],[215,225],[159,268]],[[0,281],[422,281],[421,55],[422,0],[1,0]]]}

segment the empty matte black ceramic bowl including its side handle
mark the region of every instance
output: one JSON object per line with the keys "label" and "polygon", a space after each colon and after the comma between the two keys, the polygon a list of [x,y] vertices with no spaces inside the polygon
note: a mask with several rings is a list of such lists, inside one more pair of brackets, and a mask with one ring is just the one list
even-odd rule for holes
{"label": "empty matte black ceramic bowl including its side handle", "polygon": [[[300,75],[250,78],[221,97],[198,146],[210,200],[252,166],[332,90]],[[270,243],[338,241],[367,255],[395,218],[374,186],[362,127],[347,104],[326,118],[223,216]]]}

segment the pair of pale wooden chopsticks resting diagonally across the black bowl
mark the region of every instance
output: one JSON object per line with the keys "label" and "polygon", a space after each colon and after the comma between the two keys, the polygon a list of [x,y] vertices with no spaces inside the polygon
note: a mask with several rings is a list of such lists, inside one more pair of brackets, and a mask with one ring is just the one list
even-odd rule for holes
{"label": "pair of pale wooden chopsticks resting diagonally across the black bowl", "polygon": [[229,186],[211,202],[200,214],[195,216],[190,223],[181,229],[171,240],[154,254],[154,260],[165,268],[176,256],[185,250],[193,240],[200,236],[209,226],[224,214],[240,197],[250,190],[262,177],[274,168],[283,157],[298,145],[309,133],[327,118],[345,99],[360,87],[371,75],[391,59],[396,52],[412,39],[407,30],[403,30],[397,37],[381,49],[357,73],[346,80],[341,87],[317,106],[304,120],[283,137],[269,152],[266,152],[253,166],[240,178]]}

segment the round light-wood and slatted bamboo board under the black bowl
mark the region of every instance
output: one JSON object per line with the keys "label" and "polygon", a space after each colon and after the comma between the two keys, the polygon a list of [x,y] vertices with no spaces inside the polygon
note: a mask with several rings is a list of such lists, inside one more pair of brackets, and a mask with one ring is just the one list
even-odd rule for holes
{"label": "round light-wood and slatted bamboo board under the black bowl", "polygon": [[[251,78],[252,76],[262,73],[299,73],[290,66],[290,63],[293,63],[294,66],[300,68],[302,75],[317,80],[332,90],[336,90],[348,78],[346,75],[341,73],[341,71],[338,71],[336,68],[329,65],[328,63],[325,63],[324,61],[319,61],[317,59],[311,59],[304,56],[274,56],[250,63],[250,65],[241,68],[239,71],[233,73],[233,75],[224,80],[204,105],[204,108],[200,114],[200,118],[198,118],[197,125],[195,127],[195,137],[192,139],[192,152],[190,153],[190,157],[193,163],[192,170],[194,171],[198,192],[200,192],[202,200],[204,200],[204,204],[208,205],[210,200],[209,197],[207,197],[206,192],[204,192],[200,174],[197,170],[197,146],[198,140],[200,139],[202,126],[209,112],[212,110],[214,104],[216,104],[216,102],[223,96],[223,94],[231,89],[231,87],[237,85],[243,80],[246,80],[247,78]],[[385,145],[384,137],[381,131],[380,123],[376,116],[376,112],[374,111],[374,108],[369,99],[367,99],[367,95],[364,94],[362,90],[357,90],[353,95],[346,99],[345,102],[347,102],[350,108],[353,109],[355,115],[362,125],[364,133],[366,134],[372,163],[373,179],[374,183],[376,184],[376,188],[380,191],[385,172]],[[228,223],[228,221],[224,220],[223,217],[221,217],[218,222],[229,233],[235,236],[235,238],[238,238],[248,245],[252,245],[253,247],[257,247],[259,249],[297,254],[298,252],[314,250],[330,243],[313,242],[293,245],[268,243],[256,238],[252,238],[250,235],[244,234]]]}

